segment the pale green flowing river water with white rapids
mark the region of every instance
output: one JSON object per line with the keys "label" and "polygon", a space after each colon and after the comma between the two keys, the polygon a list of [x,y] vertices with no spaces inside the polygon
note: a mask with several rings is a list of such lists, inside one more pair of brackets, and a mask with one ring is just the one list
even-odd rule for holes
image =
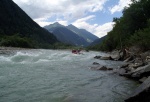
{"label": "pale green flowing river water with white rapids", "polygon": [[123,102],[137,83],[93,62],[117,68],[122,62],[96,60],[100,52],[21,50],[0,54],[0,102]]}

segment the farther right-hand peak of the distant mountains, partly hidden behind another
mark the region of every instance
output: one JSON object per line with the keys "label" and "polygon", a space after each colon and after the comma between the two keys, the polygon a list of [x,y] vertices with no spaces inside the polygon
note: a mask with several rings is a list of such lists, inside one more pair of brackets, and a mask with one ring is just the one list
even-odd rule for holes
{"label": "farther right-hand peak of the distant mountains, partly hidden behind another", "polygon": [[77,35],[83,37],[89,43],[92,43],[94,40],[98,39],[98,37],[93,35],[92,33],[86,31],[85,29],[78,29],[72,24],[68,25],[67,28],[76,33]]}

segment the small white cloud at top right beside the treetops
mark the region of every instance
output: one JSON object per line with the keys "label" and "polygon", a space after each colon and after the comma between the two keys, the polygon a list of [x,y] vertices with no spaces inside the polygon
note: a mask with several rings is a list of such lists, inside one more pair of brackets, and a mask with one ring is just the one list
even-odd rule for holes
{"label": "small white cloud at top right beside the treetops", "polygon": [[110,12],[112,14],[115,12],[120,12],[124,9],[124,7],[128,7],[131,3],[131,0],[120,0],[118,5],[115,5],[114,7],[110,8]]}

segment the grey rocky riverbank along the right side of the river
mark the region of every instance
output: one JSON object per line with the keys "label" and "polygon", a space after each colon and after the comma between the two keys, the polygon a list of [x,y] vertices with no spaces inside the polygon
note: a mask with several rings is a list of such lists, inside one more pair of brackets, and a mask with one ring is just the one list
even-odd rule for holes
{"label": "grey rocky riverbank along the right side of the river", "polygon": [[132,47],[120,51],[113,51],[108,56],[95,56],[99,60],[124,61],[125,64],[117,69],[107,68],[99,63],[92,69],[113,70],[120,76],[139,81],[141,85],[125,100],[125,102],[150,102],[150,51],[143,52],[141,49]]}

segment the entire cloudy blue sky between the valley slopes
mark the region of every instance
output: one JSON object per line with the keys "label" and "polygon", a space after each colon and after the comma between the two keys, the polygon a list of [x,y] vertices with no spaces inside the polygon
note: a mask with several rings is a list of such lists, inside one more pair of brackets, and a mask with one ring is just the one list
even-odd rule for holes
{"label": "entire cloudy blue sky between the valley slopes", "polygon": [[35,22],[44,27],[55,22],[73,24],[99,38],[113,28],[131,0],[13,0]]}

